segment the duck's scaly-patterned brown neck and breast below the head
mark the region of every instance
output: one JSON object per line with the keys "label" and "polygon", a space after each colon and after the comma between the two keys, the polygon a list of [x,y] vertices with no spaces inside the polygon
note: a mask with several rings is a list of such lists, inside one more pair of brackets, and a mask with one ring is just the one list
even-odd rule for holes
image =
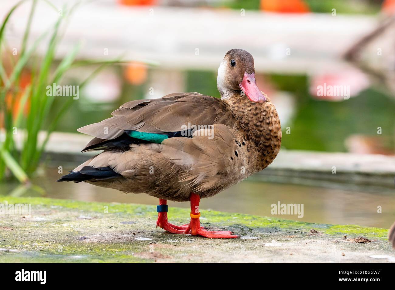
{"label": "duck's scaly-patterned brown neck and breast below the head", "polygon": [[221,99],[239,121],[248,151],[257,152],[256,167],[262,170],[275,159],[281,146],[281,125],[276,108],[266,97],[263,104],[252,103],[241,91],[220,92]]}

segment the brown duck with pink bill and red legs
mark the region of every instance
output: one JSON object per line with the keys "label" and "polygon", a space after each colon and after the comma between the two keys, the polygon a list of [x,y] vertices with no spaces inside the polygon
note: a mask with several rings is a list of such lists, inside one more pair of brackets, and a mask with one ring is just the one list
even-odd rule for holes
{"label": "brown duck with pink bill and red legs", "polygon": [[[238,238],[200,225],[199,202],[269,166],[281,146],[271,99],[256,85],[254,58],[231,49],[218,68],[220,98],[173,93],[129,101],[112,117],[77,131],[103,150],[57,181],[87,182],[159,199],[156,227],[172,234]],[[190,202],[190,222],[169,223],[167,200]]]}

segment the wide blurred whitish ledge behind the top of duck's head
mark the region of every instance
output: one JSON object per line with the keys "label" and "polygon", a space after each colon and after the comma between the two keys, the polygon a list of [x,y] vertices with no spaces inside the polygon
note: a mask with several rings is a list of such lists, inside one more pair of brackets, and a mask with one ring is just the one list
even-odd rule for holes
{"label": "wide blurred whitish ledge behind the top of duck's head", "polygon": [[[2,2],[1,19],[16,2]],[[11,18],[7,29],[11,47],[21,43],[28,3]],[[62,3],[54,2],[59,7]],[[57,17],[55,9],[39,1],[32,38],[51,27]],[[243,16],[241,11],[230,9],[126,7],[92,2],[81,5],[71,17],[57,56],[64,56],[83,41],[79,58],[113,59],[124,54],[125,58],[156,61],[164,68],[216,70],[229,49],[242,48],[254,56],[258,72],[314,73],[323,68],[339,71],[348,67],[340,56],[377,24],[373,16],[332,16],[331,11],[287,15],[247,10]],[[45,45],[39,51],[44,53]]]}

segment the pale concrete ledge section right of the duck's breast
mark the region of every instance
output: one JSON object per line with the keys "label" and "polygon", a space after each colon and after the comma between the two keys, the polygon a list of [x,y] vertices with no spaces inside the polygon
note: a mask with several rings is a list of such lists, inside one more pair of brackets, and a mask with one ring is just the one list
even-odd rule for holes
{"label": "pale concrete ledge section right of the duck's breast", "polygon": [[395,156],[299,150],[281,150],[268,168],[253,176],[271,182],[372,190],[380,187],[392,192],[394,177]]}

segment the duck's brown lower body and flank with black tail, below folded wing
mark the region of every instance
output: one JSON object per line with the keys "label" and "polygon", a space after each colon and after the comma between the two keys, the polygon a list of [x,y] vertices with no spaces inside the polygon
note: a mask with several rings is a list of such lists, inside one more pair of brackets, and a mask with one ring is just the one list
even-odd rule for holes
{"label": "duck's brown lower body and flank with black tail, below folded wing", "polygon": [[243,179],[247,154],[236,135],[230,127],[216,124],[195,131],[192,138],[104,151],[58,181],[87,181],[175,201],[189,200],[191,191],[208,197]]}

